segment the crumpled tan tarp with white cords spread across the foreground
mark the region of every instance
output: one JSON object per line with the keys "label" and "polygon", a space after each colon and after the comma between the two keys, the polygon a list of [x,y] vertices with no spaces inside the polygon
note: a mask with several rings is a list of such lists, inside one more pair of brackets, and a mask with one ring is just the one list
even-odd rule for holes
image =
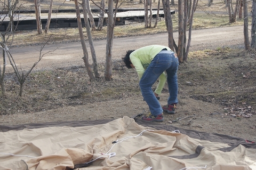
{"label": "crumpled tan tarp with white cords spread across the foreground", "polygon": [[255,147],[238,144],[228,150],[225,142],[164,129],[123,117],[91,126],[0,132],[0,170],[256,169]]}

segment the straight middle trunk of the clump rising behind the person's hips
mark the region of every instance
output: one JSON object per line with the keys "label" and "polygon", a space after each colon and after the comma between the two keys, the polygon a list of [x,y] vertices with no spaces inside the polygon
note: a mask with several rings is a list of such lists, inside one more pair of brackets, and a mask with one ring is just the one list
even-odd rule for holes
{"label": "straight middle trunk of the clump rising behind the person's hips", "polygon": [[179,41],[178,41],[178,59],[183,62],[184,45],[184,25],[183,25],[183,0],[178,0],[178,19],[179,19]]}

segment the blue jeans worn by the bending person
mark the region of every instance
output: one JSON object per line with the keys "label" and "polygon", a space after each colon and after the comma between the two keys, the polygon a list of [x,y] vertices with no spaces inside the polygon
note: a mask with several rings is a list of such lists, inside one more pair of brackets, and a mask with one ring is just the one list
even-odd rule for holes
{"label": "blue jeans worn by the bending person", "polygon": [[178,103],[178,79],[177,71],[179,67],[178,58],[175,58],[171,51],[161,51],[151,61],[148,68],[145,70],[140,79],[140,90],[143,99],[147,102],[152,115],[157,116],[162,114],[163,109],[161,104],[156,99],[152,86],[157,78],[166,71],[167,83],[169,89],[169,98],[167,104]]}

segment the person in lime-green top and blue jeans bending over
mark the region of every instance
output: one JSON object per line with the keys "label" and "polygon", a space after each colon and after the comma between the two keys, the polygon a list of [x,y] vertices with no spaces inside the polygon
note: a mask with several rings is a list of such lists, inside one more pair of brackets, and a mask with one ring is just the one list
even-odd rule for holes
{"label": "person in lime-green top and blue jeans bending over", "polygon": [[[138,72],[141,94],[150,110],[150,113],[143,116],[142,120],[162,122],[164,120],[163,111],[174,114],[178,103],[177,71],[179,61],[177,55],[167,46],[149,45],[137,50],[127,51],[122,60],[127,68],[135,68]],[[166,82],[164,71],[167,74],[169,98],[167,105],[161,107],[156,97],[161,94]],[[159,83],[155,92],[153,92],[152,86],[158,77]]]}

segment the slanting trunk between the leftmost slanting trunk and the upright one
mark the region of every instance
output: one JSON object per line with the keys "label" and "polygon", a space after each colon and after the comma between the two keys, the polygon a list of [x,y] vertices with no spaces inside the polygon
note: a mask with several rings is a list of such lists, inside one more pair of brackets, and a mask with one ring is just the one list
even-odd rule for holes
{"label": "slanting trunk between the leftmost slanting trunk and the upright one", "polygon": [[99,70],[98,70],[98,62],[97,62],[97,58],[96,58],[96,53],[95,53],[93,41],[92,41],[92,35],[91,35],[91,31],[90,31],[89,20],[88,20],[88,16],[87,16],[87,13],[86,13],[86,2],[85,1],[86,0],[82,0],[84,23],[85,23],[86,33],[87,33],[87,37],[88,37],[88,41],[89,41],[90,49],[91,49],[94,76],[99,78],[100,74],[99,74]]}

